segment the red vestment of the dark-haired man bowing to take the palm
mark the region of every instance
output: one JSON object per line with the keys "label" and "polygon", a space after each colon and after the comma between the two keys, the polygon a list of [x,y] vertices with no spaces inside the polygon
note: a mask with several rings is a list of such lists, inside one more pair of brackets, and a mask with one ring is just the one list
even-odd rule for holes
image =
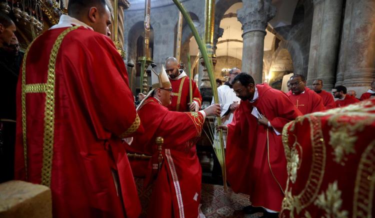
{"label": "red vestment of the dark-haired man bowing to take the palm", "polygon": [[280,133],[287,122],[302,114],[282,91],[268,84],[255,86],[258,98],[253,103],[241,100],[228,124],[227,180],[233,191],[249,194],[253,206],[280,211],[287,175],[281,135],[258,124],[251,111],[255,106]]}

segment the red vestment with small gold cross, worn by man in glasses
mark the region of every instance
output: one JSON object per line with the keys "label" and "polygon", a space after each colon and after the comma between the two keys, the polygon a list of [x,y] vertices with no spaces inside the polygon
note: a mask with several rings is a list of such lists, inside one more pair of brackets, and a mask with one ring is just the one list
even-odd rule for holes
{"label": "red vestment with small gold cross, worn by man in glasses", "polygon": [[302,114],[322,111],[325,109],[321,97],[316,94],[315,91],[307,87],[304,88],[304,93],[293,94],[289,91],[286,94]]}

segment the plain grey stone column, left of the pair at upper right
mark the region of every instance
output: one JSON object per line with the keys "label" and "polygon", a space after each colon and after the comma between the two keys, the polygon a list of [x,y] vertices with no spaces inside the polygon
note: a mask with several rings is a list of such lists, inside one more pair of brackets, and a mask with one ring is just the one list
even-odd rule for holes
{"label": "plain grey stone column, left of the pair at upper right", "polygon": [[307,85],[321,79],[323,88],[330,91],[335,81],[342,0],[313,0],[313,4]]}

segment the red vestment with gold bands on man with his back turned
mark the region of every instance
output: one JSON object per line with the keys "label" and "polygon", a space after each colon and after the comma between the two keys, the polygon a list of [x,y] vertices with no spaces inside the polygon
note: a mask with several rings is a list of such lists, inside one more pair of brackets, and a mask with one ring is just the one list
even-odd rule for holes
{"label": "red vestment with gold bands on man with his back turned", "polygon": [[46,31],[24,55],[15,179],[49,186],[53,217],[138,217],[135,183],[117,137],[143,131],[126,68],[108,37],[75,28]]}

